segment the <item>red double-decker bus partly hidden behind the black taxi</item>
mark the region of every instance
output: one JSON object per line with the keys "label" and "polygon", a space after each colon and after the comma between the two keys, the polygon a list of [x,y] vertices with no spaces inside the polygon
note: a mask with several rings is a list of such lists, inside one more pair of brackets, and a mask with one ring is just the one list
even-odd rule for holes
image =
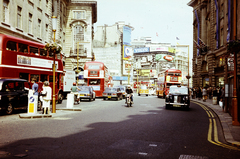
{"label": "red double-decker bus partly hidden behind the black taxi", "polygon": [[169,87],[171,85],[181,85],[182,72],[178,69],[168,69],[160,72],[158,75],[156,94],[158,97],[165,98],[169,93]]}

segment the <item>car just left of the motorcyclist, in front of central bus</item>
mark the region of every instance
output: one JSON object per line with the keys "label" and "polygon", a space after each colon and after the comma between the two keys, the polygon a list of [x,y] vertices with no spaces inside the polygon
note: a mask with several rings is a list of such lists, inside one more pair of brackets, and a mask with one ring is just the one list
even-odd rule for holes
{"label": "car just left of the motorcyclist, in front of central bus", "polygon": [[103,100],[115,98],[116,100],[123,99],[123,93],[120,87],[106,87],[103,91]]}

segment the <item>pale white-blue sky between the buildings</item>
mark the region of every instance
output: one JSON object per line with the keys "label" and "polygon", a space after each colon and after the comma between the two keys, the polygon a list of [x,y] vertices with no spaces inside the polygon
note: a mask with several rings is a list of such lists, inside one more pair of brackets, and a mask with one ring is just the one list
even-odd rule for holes
{"label": "pale white-blue sky between the buildings", "polygon": [[[152,37],[152,42],[193,45],[193,8],[190,0],[97,0],[97,26],[119,21],[134,28],[132,40]],[[177,40],[177,38],[179,40]]]}

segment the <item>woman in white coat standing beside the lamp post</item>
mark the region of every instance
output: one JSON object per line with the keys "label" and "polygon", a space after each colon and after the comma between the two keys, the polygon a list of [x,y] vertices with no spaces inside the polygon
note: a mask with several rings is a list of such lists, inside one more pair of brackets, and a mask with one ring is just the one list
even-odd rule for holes
{"label": "woman in white coat standing beside the lamp post", "polygon": [[49,87],[49,82],[45,81],[43,83],[43,90],[41,92],[42,94],[42,107],[43,107],[43,114],[49,114],[50,111],[50,102],[52,100],[52,88]]}

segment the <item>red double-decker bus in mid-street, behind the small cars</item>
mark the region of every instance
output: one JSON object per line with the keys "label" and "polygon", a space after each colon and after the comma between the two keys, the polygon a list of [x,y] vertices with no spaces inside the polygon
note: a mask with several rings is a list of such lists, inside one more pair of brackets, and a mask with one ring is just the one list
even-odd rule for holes
{"label": "red double-decker bus in mid-street, behind the small cars", "polygon": [[84,81],[88,86],[93,87],[96,97],[102,97],[102,93],[109,86],[110,80],[108,68],[103,62],[90,61],[85,63]]}

